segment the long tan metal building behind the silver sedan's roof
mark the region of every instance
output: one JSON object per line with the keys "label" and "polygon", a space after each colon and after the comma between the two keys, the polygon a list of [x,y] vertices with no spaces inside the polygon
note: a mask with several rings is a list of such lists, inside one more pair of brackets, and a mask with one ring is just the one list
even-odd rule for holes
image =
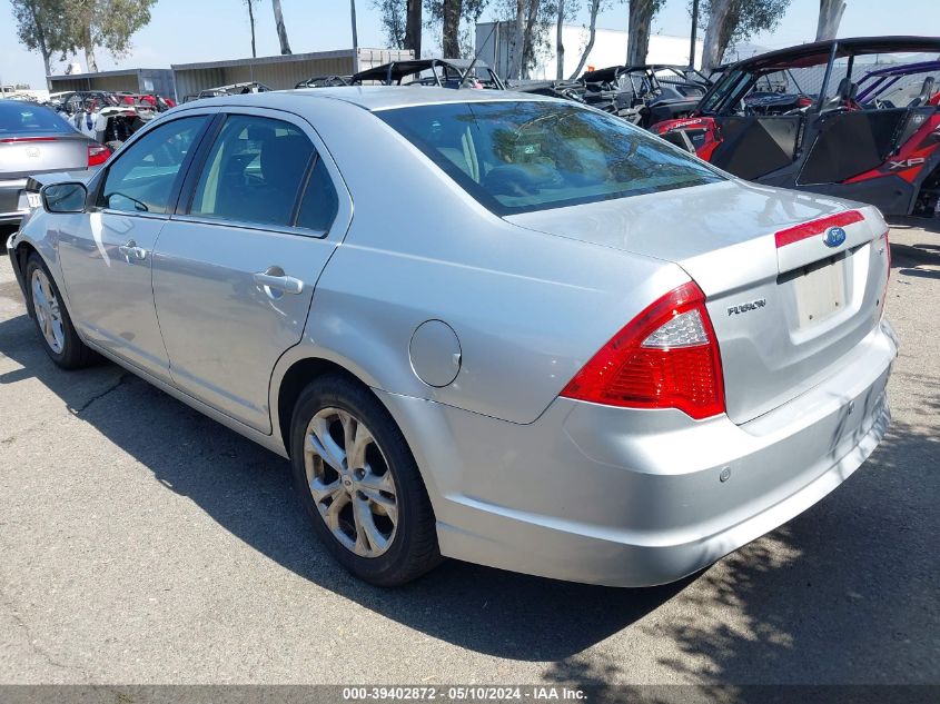
{"label": "long tan metal building behind the silver sedan's roof", "polygon": [[257,81],[275,90],[294,88],[314,76],[350,76],[389,61],[414,58],[410,50],[340,49],[255,59],[231,59],[172,66],[177,100],[207,88]]}

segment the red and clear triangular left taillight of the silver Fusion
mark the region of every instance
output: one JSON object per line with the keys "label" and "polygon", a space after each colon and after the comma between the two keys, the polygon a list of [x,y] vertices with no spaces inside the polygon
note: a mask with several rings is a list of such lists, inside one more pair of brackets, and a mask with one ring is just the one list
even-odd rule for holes
{"label": "red and clear triangular left taillight of the silver Fusion", "polygon": [[653,303],[568,381],[562,396],[629,408],[724,413],[721,354],[705,296],[690,281]]}

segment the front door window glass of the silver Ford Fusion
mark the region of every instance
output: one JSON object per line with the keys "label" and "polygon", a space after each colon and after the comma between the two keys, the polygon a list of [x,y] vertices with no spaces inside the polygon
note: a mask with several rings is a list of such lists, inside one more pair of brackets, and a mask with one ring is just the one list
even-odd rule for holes
{"label": "front door window glass of the silver Ford Fusion", "polygon": [[172,120],[122,149],[108,169],[98,205],[123,212],[169,212],[179,169],[206,119]]}

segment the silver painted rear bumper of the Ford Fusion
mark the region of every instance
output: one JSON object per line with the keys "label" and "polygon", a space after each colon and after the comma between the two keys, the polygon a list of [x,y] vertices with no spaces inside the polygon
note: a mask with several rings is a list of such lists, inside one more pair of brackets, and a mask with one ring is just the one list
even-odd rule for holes
{"label": "silver painted rear bumper of the Ford Fusion", "polygon": [[564,398],[514,425],[384,399],[424,470],[443,554],[647,586],[710,565],[848,478],[890,422],[896,355],[882,323],[838,374],[742,426]]}

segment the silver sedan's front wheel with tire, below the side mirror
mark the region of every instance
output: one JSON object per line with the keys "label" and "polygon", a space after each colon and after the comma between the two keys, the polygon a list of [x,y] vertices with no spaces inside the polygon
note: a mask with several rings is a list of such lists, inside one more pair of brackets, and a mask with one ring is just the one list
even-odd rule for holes
{"label": "silver sedan's front wheel with tire, below the side mirror", "polygon": [[59,287],[39,255],[33,252],[27,259],[24,278],[27,305],[49,358],[62,369],[95,363],[98,356],[78,336]]}

